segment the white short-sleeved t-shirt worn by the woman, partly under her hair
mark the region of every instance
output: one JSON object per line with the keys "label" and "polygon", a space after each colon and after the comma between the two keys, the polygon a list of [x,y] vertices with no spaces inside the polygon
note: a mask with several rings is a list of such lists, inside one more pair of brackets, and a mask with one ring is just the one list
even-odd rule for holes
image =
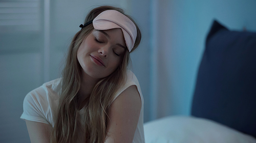
{"label": "white short-sleeved t-shirt worn by the woman, partly under her hair", "polygon": [[[24,99],[23,103],[23,114],[20,119],[40,122],[54,126],[53,116],[57,114],[58,104],[59,104],[59,92],[61,91],[60,82],[61,78],[46,82],[42,84],[39,88],[34,89],[28,93]],[[144,143],[144,129],[143,129],[143,96],[141,93],[140,85],[138,79],[134,73],[127,70],[127,80],[126,83],[120,88],[114,97],[114,100],[120,95],[125,89],[131,85],[136,85],[137,90],[141,98],[141,110],[139,122],[135,131],[133,143]],[[114,101],[113,100],[113,101]]]}

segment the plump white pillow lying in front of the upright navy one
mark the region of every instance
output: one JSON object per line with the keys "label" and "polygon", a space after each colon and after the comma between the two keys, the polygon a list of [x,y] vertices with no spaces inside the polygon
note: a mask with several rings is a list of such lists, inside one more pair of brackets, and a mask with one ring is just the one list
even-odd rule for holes
{"label": "plump white pillow lying in front of the upright navy one", "polygon": [[145,143],[255,143],[250,135],[202,118],[171,116],[144,124]]}

